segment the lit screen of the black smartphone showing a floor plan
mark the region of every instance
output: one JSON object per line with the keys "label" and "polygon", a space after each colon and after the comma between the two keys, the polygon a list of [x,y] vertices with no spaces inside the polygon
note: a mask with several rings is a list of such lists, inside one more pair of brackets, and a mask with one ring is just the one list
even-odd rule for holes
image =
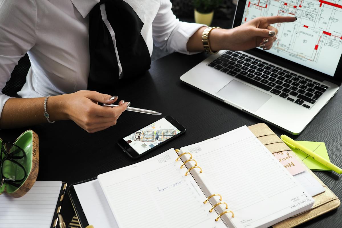
{"label": "lit screen of the black smartphone showing a floor plan", "polygon": [[157,146],[165,140],[172,138],[181,131],[167,119],[162,118],[126,137],[128,143],[139,155]]}

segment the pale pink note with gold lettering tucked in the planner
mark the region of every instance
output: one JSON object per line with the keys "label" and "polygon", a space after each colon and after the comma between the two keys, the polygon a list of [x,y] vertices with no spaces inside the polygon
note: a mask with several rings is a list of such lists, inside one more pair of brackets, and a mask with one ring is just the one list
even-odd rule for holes
{"label": "pale pink note with gold lettering tucked in the planner", "polygon": [[284,165],[292,176],[305,171],[303,164],[301,164],[297,159],[294,159],[295,155],[292,151],[275,152],[273,153],[273,156],[276,157],[282,165]]}

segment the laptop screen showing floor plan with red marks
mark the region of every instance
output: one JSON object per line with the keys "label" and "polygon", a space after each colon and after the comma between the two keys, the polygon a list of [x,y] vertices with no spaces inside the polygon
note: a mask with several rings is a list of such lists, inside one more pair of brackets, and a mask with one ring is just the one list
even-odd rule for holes
{"label": "laptop screen showing floor plan with red marks", "polygon": [[276,15],[298,19],[272,25],[278,35],[267,52],[334,76],[342,55],[342,0],[247,0],[241,24]]}

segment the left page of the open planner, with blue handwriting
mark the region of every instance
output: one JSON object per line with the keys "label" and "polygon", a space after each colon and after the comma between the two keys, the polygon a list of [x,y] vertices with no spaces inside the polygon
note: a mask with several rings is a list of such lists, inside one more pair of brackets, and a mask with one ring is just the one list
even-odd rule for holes
{"label": "left page of the open planner, with blue handwriting", "polygon": [[226,227],[170,149],[145,161],[98,175],[101,188],[121,228]]}

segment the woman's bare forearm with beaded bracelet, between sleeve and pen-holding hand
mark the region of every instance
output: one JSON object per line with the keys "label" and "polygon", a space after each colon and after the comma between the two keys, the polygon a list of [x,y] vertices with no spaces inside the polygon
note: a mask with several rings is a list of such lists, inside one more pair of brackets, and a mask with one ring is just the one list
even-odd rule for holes
{"label": "woman's bare forearm with beaded bracelet, between sleeve and pen-holding hand", "polygon": [[[8,99],[2,109],[0,128],[20,128],[46,123],[44,99],[45,97]],[[63,95],[49,97],[47,111],[51,121],[67,119],[63,107]]]}

